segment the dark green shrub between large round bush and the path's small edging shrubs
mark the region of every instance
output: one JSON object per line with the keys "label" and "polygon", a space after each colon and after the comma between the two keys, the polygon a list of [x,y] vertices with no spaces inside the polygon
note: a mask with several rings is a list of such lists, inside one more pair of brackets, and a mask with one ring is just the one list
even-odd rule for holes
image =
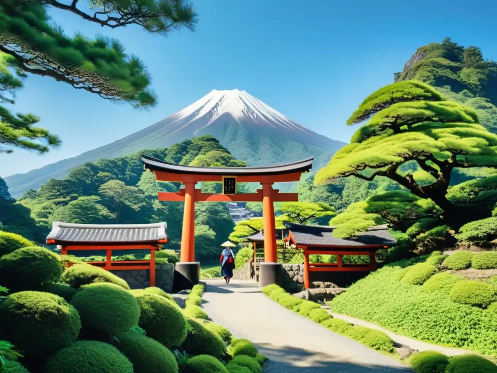
{"label": "dark green shrub between large round bush and the path's small edging shrubs", "polygon": [[209,331],[202,322],[188,318],[188,332],[181,347],[192,355],[211,355],[217,359],[226,356],[226,344]]}

